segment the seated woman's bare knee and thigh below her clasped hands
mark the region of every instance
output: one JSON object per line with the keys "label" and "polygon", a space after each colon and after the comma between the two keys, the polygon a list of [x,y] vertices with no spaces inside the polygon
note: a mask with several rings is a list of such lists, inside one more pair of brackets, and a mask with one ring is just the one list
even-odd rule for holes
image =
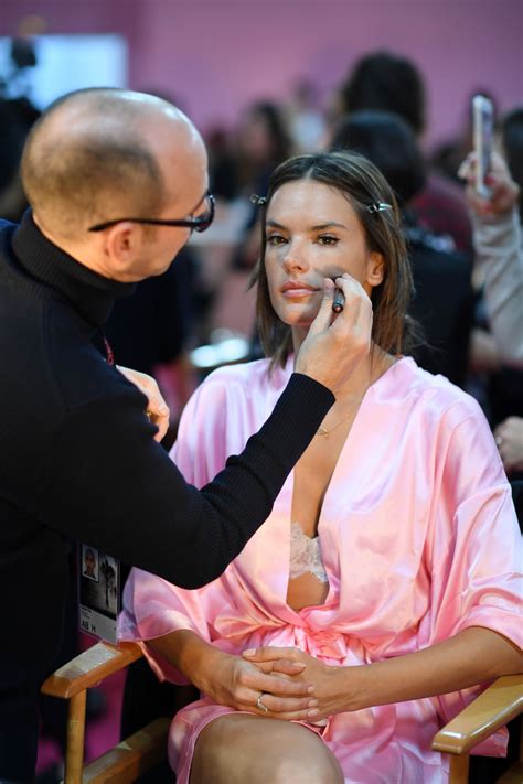
{"label": "seated woman's bare knee and thigh below her clasped hands", "polygon": [[343,784],[340,765],[301,724],[244,713],[222,716],[202,730],[190,784]]}

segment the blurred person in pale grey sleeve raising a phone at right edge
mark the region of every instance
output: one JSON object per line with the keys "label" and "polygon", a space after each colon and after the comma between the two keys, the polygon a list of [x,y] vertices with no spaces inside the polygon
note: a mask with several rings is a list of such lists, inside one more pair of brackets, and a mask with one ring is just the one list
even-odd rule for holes
{"label": "blurred person in pale grey sleeve raising a phone at right edge", "polygon": [[477,264],[483,278],[473,363],[487,378],[487,408],[505,470],[512,479],[523,479],[523,109],[502,118],[499,141],[504,158],[492,155],[489,198],[478,197],[474,191],[474,155],[460,170],[468,183]]}

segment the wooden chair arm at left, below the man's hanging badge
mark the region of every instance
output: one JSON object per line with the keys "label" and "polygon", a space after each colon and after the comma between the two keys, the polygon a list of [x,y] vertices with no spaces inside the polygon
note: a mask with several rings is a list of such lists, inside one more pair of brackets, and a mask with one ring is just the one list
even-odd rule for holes
{"label": "wooden chair arm at left, below the man's hanging badge", "polygon": [[142,656],[136,643],[97,643],[50,675],[42,692],[70,699]]}

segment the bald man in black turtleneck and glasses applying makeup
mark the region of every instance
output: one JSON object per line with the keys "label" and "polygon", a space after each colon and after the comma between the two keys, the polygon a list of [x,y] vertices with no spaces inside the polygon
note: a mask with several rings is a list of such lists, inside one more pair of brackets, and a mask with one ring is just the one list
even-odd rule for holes
{"label": "bald man in black turtleneck and glasses applying makeup", "polygon": [[[92,337],[117,297],[163,272],[210,225],[199,132],[152,96],[82,90],[34,126],[22,180],[32,208],[20,226],[0,223],[2,783],[34,773],[36,698],[60,642],[70,539],[185,588],[216,578],[268,516],[369,350],[372,322],[362,300],[331,323],[325,282],[275,411],[198,491],[153,440],[143,395]],[[340,284],[351,302],[350,282]]]}

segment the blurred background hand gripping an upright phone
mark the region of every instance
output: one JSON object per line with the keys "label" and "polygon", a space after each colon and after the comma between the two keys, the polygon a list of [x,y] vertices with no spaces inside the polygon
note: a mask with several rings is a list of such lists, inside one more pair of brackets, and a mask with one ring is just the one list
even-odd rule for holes
{"label": "blurred background hand gripping an upright phone", "polygon": [[492,152],[487,185],[491,191],[490,198],[481,198],[474,189],[474,172],[477,155],[471,152],[461,163],[458,176],[467,181],[467,202],[478,215],[501,215],[510,212],[517,202],[520,189],[512,180],[509,168],[498,152]]}

